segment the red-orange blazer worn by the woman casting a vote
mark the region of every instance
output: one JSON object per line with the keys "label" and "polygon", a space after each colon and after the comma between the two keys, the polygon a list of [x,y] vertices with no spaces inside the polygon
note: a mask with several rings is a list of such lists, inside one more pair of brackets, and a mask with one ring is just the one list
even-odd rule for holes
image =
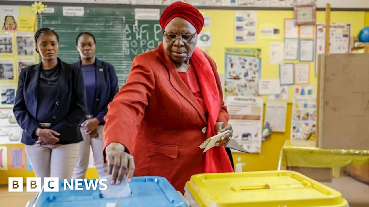
{"label": "red-orange blazer worn by the woman casting a vote", "polygon": [[[218,122],[227,123],[217,66],[206,57],[220,94]],[[135,176],[163,176],[183,193],[190,177],[201,173],[199,146],[206,139],[207,117],[162,44],[135,57],[105,120],[104,149],[112,142],[123,144],[135,158]]]}

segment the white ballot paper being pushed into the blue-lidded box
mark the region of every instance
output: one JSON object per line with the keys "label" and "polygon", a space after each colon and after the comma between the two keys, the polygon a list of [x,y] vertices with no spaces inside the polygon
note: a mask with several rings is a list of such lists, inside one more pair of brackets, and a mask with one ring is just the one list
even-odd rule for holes
{"label": "white ballot paper being pushed into the blue-lidded box", "polygon": [[104,198],[118,198],[118,197],[128,197],[131,195],[131,188],[127,182],[127,178],[124,175],[122,182],[119,185],[110,184],[111,175],[107,175],[101,179],[107,180],[107,188],[106,190],[101,190]]}

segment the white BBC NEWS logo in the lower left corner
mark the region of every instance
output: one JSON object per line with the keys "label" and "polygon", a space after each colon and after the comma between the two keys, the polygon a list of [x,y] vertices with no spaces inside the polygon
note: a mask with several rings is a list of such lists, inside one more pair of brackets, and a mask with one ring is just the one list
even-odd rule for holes
{"label": "white BBC NEWS logo in the lower left corner", "polygon": [[[63,190],[106,190],[107,187],[106,179],[63,180]],[[41,192],[41,189],[41,178],[26,178],[26,192]],[[44,178],[44,191],[59,192],[59,178]],[[23,178],[8,178],[8,192],[23,192]]]}

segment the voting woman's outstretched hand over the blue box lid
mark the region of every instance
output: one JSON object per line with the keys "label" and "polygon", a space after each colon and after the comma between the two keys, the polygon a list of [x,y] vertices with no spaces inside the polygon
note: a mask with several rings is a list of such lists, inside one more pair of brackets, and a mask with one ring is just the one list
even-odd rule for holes
{"label": "voting woman's outstretched hand over the blue box lid", "polygon": [[125,147],[120,143],[110,143],[105,148],[108,164],[108,174],[111,174],[111,184],[119,185],[124,175],[127,174],[127,182],[130,182],[135,172],[133,156],[124,152]]}

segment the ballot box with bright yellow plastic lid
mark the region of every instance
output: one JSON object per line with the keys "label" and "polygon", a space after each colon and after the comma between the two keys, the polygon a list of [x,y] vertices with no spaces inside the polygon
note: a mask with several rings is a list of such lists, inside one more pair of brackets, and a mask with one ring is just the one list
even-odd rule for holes
{"label": "ballot box with bright yellow plastic lid", "polygon": [[185,189],[192,207],[348,207],[338,191],[293,171],[198,174]]}

